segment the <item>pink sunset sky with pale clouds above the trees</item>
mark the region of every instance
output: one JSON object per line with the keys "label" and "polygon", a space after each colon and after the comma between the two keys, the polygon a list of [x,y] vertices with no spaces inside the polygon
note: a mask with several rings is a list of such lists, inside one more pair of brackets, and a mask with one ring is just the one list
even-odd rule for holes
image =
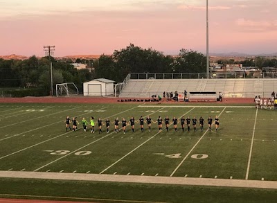
{"label": "pink sunset sky with pale clouds above the trees", "polygon": [[[277,0],[208,0],[210,53],[277,53]],[[206,53],[206,0],[0,0],[0,55]]]}

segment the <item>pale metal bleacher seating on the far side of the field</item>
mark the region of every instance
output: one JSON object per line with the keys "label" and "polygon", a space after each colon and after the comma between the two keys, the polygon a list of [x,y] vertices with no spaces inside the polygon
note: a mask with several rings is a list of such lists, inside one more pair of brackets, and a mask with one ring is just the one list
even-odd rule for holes
{"label": "pale metal bleacher seating on the far side of the field", "polygon": [[272,91],[277,91],[277,79],[130,79],[120,97],[151,98],[162,96],[163,91],[184,93],[185,89],[188,97],[189,91],[222,91],[224,98],[270,97]]}

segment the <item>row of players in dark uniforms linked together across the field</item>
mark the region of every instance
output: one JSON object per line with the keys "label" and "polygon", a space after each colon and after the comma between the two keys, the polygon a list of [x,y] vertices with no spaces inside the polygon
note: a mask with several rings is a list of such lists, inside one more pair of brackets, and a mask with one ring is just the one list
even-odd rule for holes
{"label": "row of players in dark uniforms linked together across the field", "polygon": [[[213,124],[215,124],[215,130],[217,131],[218,127],[220,126],[220,121],[218,116],[215,116],[215,121],[213,122],[213,118],[211,118],[211,116],[208,117],[207,119],[208,122],[208,129],[211,130],[211,127]],[[79,122],[76,120],[76,118],[72,118],[72,120],[69,118],[69,116],[66,117],[66,132],[69,130],[71,130],[70,124],[73,123],[73,130],[75,131],[77,129],[77,124],[79,124]],[[95,132],[95,123],[94,123],[94,118],[93,116],[91,116],[90,118],[90,122],[87,122],[87,120],[85,118],[82,118],[82,127],[84,129],[84,132],[87,131],[87,125],[91,126],[91,133]],[[157,119],[157,121],[152,121],[152,118],[150,118],[150,116],[147,116],[147,118],[144,120],[143,116],[141,116],[141,118],[139,118],[139,120],[135,120],[134,117],[132,116],[131,119],[129,121],[126,121],[125,118],[122,118],[122,121],[119,121],[118,118],[116,118],[116,120],[114,122],[109,121],[109,118],[107,118],[107,120],[105,121],[105,124],[102,122],[101,118],[98,118],[98,130],[99,130],[99,134],[102,132],[102,125],[106,125],[107,127],[107,133],[109,133],[109,126],[111,125],[111,123],[114,123],[114,130],[116,133],[118,133],[119,129],[119,123],[122,123],[122,130],[123,133],[125,134],[126,132],[126,127],[127,125],[130,125],[132,127],[132,132],[134,132],[134,125],[135,123],[139,123],[141,125],[141,132],[144,131],[144,124],[147,123],[148,127],[149,127],[149,132],[151,131],[151,123],[158,123],[158,127],[159,127],[159,131],[161,132],[162,127],[163,127],[163,123],[165,123],[166,125],[166,130],[168,131],[169,129],[169,125],[173,124],[173,127],[175,129],[175,132],[177,132],[177,124],[181,123],[181,128],[184,132],[185,129],[185,125],[187,125],[188,128],[188,132],[190,132],[190,123],[192,123],[193,125],[193,129],[194,131],[196,131],[196,127],[197,127],[197,123],[199,123],[200,125],[200,130],[203,131],[204,130],[204,123],[206,123],[206,121],[204,121],[204,118],[202,118],[202,116],[199,118],[199,121],[197,121],[197,118],[190,118],[188,116],[188,118],[184,118],[184,116],[181,117],[181,119],[175,118],[173,117],[172,120],[170,121],[170,118],[168,118],[168,116],[166,116],[166,118],[164,118],[164,120],[161,118],[161,116],[159,116],[159,118]]]}

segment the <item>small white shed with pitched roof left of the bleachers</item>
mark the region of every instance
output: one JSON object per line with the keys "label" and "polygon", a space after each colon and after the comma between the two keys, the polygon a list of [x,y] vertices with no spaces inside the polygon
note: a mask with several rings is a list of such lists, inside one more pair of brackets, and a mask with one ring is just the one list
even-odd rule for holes
{"label": "small white shed with pitched roof left of the bleachers", "polygon": [[84,96],[109,96],[114,94],[114,81],[99,78],[84,82]]}

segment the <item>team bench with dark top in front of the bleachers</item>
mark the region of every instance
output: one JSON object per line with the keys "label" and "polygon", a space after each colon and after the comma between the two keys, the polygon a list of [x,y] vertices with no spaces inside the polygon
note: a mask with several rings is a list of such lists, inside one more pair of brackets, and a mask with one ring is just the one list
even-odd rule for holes
{"label": "team bench with dark top in front of the bleachers", "polygon": [[190,91],[189,101],[191,102],[215,102],[217,101],[215,91]]}

